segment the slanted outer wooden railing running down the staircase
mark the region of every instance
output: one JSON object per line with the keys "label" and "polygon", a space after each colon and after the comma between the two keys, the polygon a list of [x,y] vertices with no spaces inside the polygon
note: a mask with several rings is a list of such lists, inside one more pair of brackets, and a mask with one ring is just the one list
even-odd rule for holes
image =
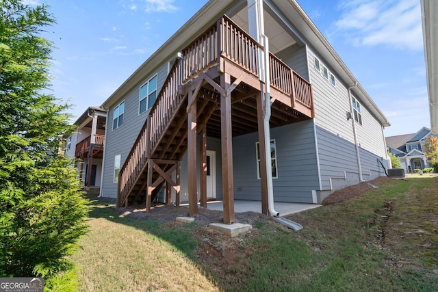
{"label": "slanted outer wooden railing running down the staircase", "polygon": [[146,167],[151,151],[157,146],[175,111],[181,105],[183,96],[179,94],[179,85],[181,85],[181,66],[180,60],[177,59],[149,111],[136,142],[120,168],[119,204],[126,199],[129,191],[136,184],[138,176]]}

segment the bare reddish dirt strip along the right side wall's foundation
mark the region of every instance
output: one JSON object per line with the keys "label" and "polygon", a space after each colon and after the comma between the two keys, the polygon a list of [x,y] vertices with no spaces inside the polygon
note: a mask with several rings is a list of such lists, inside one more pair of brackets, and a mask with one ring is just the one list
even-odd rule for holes
{"label": "bare reddish dirt strip along the right side wall's foundation", "polygon": [[389,180],[391,180],[391,178],[387,176],[380,176],[372,181],[367,181],[364,183],[359,183],[357,185],[351,185],[350,187],[346,187],[344,189],[339,189],[324,200],[322,200],[322,204],[335,204],[339,202],[344,202],[345,200],[355,198],[367,191],[370,191],[371,189],[373,189],[373,185],[380,187],[383,183],[386,183]]}

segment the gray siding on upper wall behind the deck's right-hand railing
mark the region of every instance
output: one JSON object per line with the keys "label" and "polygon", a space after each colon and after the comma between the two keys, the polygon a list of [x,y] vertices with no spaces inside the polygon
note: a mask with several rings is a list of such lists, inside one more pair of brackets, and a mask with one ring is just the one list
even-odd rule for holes
{"label": "gray siding on upper wall behind the deck's right-hand railing", "polygon": [[283,51],[276,53],[276,57],[279,57],[287,66],[297,72],[302,78],[309,80],[309,68],[307,66],[306,48],[300,47],[298,44],[284,49]]}

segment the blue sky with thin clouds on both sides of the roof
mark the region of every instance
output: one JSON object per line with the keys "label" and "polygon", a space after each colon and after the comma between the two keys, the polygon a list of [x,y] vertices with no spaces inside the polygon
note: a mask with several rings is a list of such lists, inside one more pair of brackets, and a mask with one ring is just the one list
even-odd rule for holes
{"label": "blue sky with thin clouds on both sides of the roof", "polygon": [[[50,5],[53,94],[101,105],[206,0],[27,0]],[[430,127],[419,0],[298,0],[387,116],[385,135]]]}

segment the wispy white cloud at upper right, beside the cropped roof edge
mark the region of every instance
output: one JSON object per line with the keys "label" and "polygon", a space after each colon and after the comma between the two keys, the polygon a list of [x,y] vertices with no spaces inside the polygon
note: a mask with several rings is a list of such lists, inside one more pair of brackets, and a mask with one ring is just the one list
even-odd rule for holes
{"label": "wispy white cloud at upper right, beside the cropped roof edge", "polygon": [[394,49],[423,49],[420,2],[417,0],[359,0],[343,2],[335,23],[355,45],[385,44]]}

